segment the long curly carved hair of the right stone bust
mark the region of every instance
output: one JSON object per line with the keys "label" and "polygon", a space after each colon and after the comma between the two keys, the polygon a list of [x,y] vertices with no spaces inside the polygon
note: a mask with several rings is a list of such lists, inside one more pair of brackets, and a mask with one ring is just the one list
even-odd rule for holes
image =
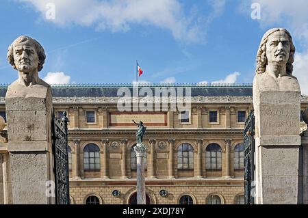
{"label": "long curly carved hair of the right stone bust", "polygon": [[292,75],[293,72],[293,62],[294,62],[294,53],[295,53],[295,46],[292,41],[292,36],[289,31],[287,31],[284,28],[274,28],[268,30],[266,33],[264,33],[264,36],[262,37],[261,43],[259,45],[259,49],[257,51],[257,68],[255,72],[257,74],[264,73],[266,70],[266,65],[268,64],[268,58],[266,57],[266,42],[268,42],[268,36],[270,36],[272,33],[276,31],[283,31],[287,34],[290,41],[290,54],[289,59],[287,60],[287,66],[286,66],[286,72],[289,75]]}

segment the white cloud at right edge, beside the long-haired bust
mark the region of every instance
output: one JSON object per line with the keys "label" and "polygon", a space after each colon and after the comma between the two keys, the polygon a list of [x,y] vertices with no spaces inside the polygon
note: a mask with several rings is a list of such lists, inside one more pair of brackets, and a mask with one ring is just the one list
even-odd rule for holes
{"label": "white cloud at right edge, beside the long-haired bust", "polygon": [[302,94],[308,95],[308,50],[305,53],[296,53],[294,59],[293,74],[300,83]]}

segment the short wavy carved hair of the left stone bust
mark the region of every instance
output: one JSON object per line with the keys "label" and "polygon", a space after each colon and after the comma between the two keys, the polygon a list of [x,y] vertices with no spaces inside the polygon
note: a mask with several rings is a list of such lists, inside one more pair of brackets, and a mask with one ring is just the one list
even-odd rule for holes
{"label": "short wavy carved hair of the left stone bust", "polygon": [[16,38],[16,40],[14,40],[14,42],[12,42],[12,44],[10,44],[7,55],[8,62],[13,66],[14,69],[16,69],[16,66],[14,64],[14,53],[13,53],[14,44],[26,42],[28,40],[33,42],[34,48],[36,49],[36,53],[38,53],[38,72],[40,72],[40,70],[42,70],[43,68],[46,55],[40,43],[38,43],[38,41],[34,40],[33,38],[30,38],[29,36],[19,36],[18,38]]}

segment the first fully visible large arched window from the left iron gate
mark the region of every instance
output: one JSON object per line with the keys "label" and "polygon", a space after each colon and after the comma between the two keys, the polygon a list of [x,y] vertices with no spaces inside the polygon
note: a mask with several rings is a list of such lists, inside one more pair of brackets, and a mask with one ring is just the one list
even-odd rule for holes
{"label": "first fully visible large arched window from the left iron gate", "polygon": [[99,146],[88,144],[84,148],[84,170],[100,170]]}

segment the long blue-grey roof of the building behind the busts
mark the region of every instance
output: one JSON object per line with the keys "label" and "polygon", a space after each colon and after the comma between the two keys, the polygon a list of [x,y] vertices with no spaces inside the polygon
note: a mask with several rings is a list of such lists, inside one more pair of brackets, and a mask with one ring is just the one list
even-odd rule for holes
{"label": "long blue-grey roof of the building behind the busts", "polygon": [[[133,85],[131,84],[65,84],[52,85],[53,97],[116,97],[118,90],[128,88],[131,93]],[[185,96],[185,88],[191,89],[191,96],[253,96],[253,86],[246,84],[199,84],[199,83],[176,83],[161,84],[149,83],[140,84],[138,89],[149,87],[153,94],[159,90],[170,90],[175,88],[176,92],[181,92],[179,88],[183,88],[183,96]],[[0,97],[5,97],[8,85],[0,85]]]}

